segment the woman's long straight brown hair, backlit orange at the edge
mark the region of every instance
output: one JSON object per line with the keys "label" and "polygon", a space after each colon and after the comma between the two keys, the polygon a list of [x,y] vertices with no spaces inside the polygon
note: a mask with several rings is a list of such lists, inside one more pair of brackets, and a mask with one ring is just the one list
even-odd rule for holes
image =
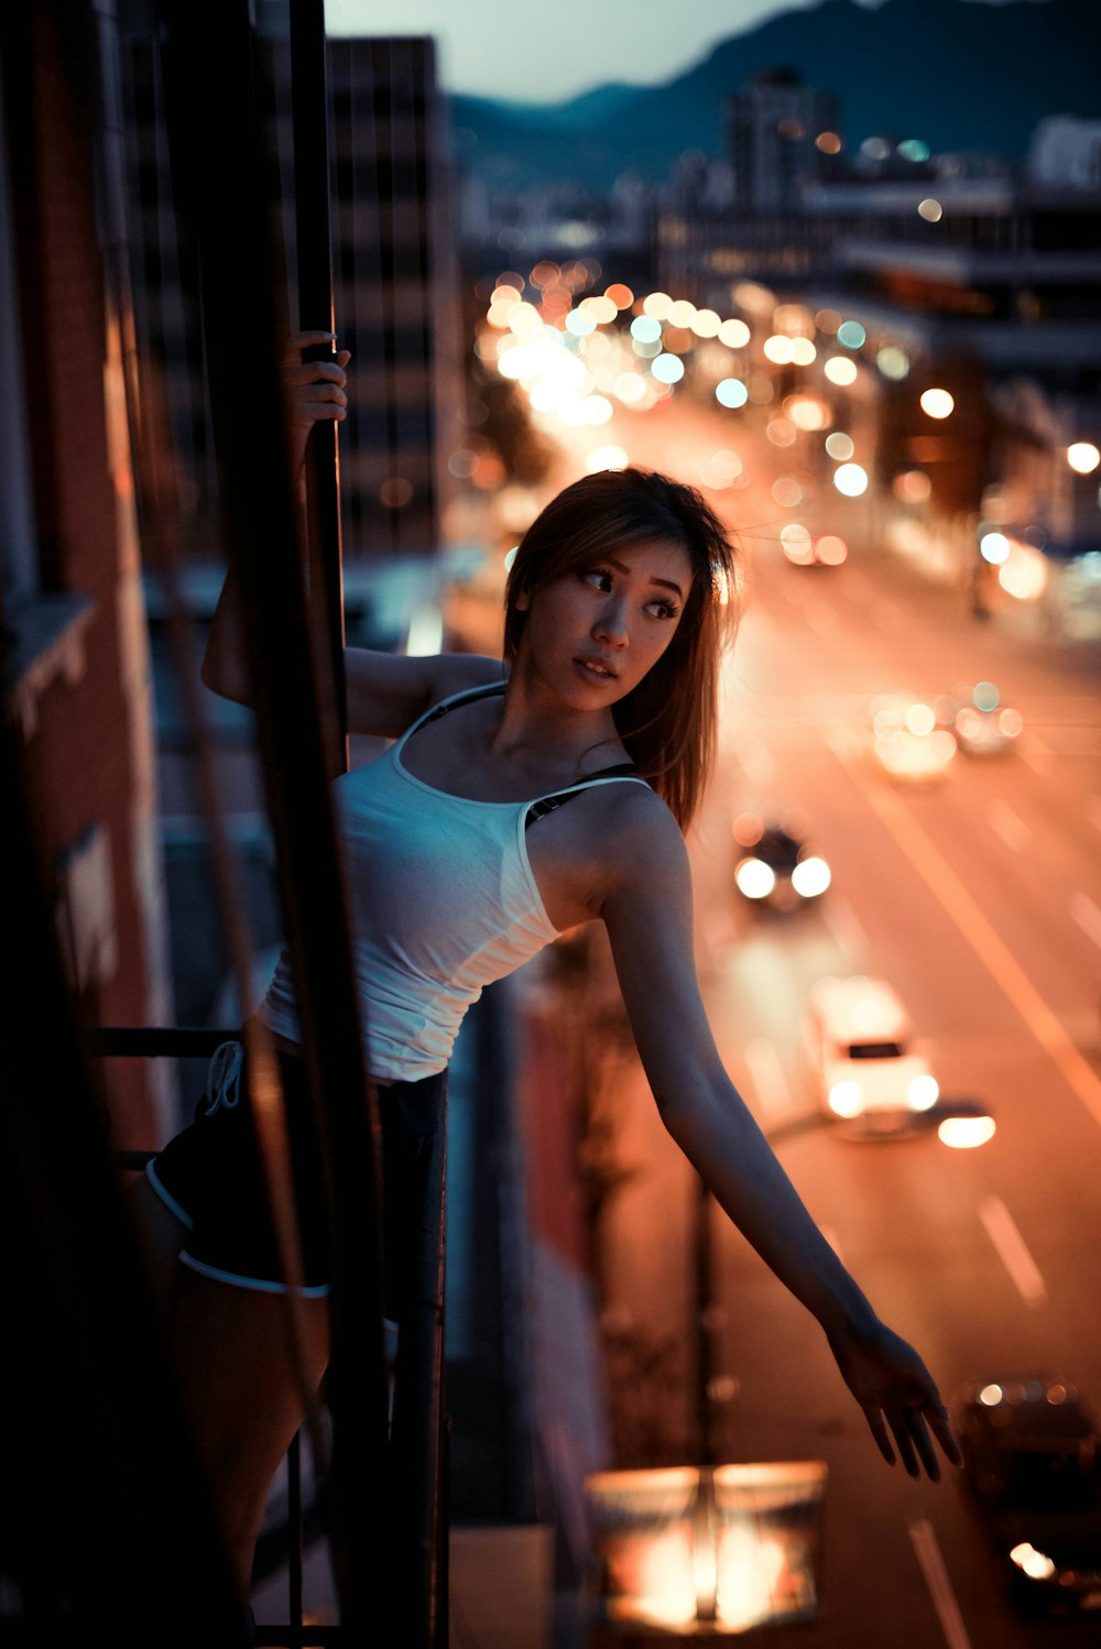
{"label": "woman's long straight brown hair, backlit orange at the edge", "polygon": [[521,539],[504,589],[504,658],[516,658],[531,599],[587,562],[631,544],[681,544],[692,566],[684,612],[658,663],[613,707],[640,773],[681,829],[699,806],[715,749],[719,666],[737,628],[742,564],[694,486],[656,470],[602,470],[552,498]]}

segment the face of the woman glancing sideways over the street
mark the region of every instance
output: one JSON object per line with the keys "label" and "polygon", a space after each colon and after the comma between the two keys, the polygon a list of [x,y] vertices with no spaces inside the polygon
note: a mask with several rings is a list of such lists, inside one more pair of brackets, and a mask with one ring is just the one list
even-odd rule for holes
{"label": "face of the woman glancing sideways over the street", "polygon": [[616,704],[669,646],[692,582],[672,539],[631,544],[518,597],[527,613],[516,669],[532,671],[575,709]]}

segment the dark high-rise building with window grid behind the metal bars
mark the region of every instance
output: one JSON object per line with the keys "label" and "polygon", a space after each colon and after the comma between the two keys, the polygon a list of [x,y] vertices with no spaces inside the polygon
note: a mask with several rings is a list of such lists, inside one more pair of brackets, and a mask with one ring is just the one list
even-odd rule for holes
{"label": "dark high-rise building with window grid behind the metal bars", "polygon": [[[262,8],[275,15],[275,8]],[[275,165],[292,157],[290,51],[267,54]],[[213,498],[198,303],[176,244],[157,38],[125,41],[135,308],[142,355],[162,373],[181,495]],[[452,170],[430,38],[330,38],[330,170],[336,330],[353,351],[341,425],[341,514],[349,562],[433,552],[442,541],[448,470],[461,445],[461,317],[452,224]],[[293,305],[293,201],[283,190],[288,328]],[[242,302],[247,313],[247,302]],[[242,336],[247,350],[247,336]]]}

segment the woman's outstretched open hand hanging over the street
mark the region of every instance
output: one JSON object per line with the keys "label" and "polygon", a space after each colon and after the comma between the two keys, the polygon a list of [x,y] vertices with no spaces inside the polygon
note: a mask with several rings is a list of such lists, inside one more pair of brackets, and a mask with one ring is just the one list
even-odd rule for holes
{"label": "woman's outstretched open hand hanging over the street", "polygon": [[882,1322],[870,1329],[827,1331],[826,1337],[888,1466],[898,1458],[911,1478],[920,1478],[925,1468],[938,1482],[941,1466],[933,1440],[953,1466],[961,1464],[948,1410],[913,1346]]}

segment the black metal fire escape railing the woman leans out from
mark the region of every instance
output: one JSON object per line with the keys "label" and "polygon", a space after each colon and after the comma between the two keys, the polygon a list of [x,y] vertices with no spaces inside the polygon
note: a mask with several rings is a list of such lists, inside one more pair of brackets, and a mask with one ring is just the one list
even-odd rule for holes
{"label": "black metal fire escape railing the woman leans out from", "polygon": [[[300,325],[323,330],[333,320],[323,3],[290,0],[290,16]],[[303,569],[297,482],[280,462],[285,429],[277,361],[283,323],[247,0],[219,8],[216,40],[209,12],[190,0],[166,0],[165,20],[173,191],[181,233],[191,239],[185,251],[199,272],[224,547],[242,597],[257,744],[335,1255],[333,1354],[325,1380],[331,1441],[318,1492],[340,1626],[303,1626],[300,1555],[292,1553],[290,1624],[259,1623],[255,1641],[297,1646],[354,1636],[402,1649],[442,1649],[445,1116],[433,1138],[424,1205],[415,1210],[415,1286],[414,1298],[404,1301],[391,1392],[381,1126],[363,1060],[363,1009],[330,795],[331,778],[348,765],[336,425],[316,429],[310,442]],[[241,416],[244,384],[247,417]],[[140,417],[134,422],[140,425]],[[173,533],[155,483],[143,486],[148,432],[143,439],[137,427],[135,437],[142,526],[163,554]],[[162,564],[170,561],[171,554]],[[239,965],[241,978],[244,971]],[[226,1034],[237,1029],[101,1027],[91,1047],[99,1055],[178,1057],[208,1050]],[[124,1166],[140,1166],[140,1156],[124,1159]],[[297,1445],[288,1466],[293,1487]],[[298,1525],[300,1515],[297,1507]]]}

